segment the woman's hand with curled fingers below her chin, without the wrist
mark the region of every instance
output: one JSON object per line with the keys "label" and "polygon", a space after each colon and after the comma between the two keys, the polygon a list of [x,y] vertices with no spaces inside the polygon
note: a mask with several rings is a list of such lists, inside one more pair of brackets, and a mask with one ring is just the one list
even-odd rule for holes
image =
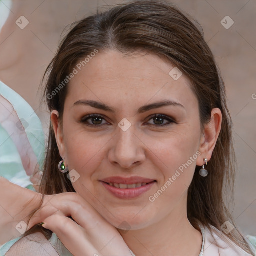
{"label": "woman's hand with curled fingers below her chin, without the wrist", "polygon": [[[53,231],[74,256],[132,255],[117,229],[81,196],[71,192],[57,196],[56,212],[45,218],[42,226]],[[45,212],[52,206],[51,198]]]}

